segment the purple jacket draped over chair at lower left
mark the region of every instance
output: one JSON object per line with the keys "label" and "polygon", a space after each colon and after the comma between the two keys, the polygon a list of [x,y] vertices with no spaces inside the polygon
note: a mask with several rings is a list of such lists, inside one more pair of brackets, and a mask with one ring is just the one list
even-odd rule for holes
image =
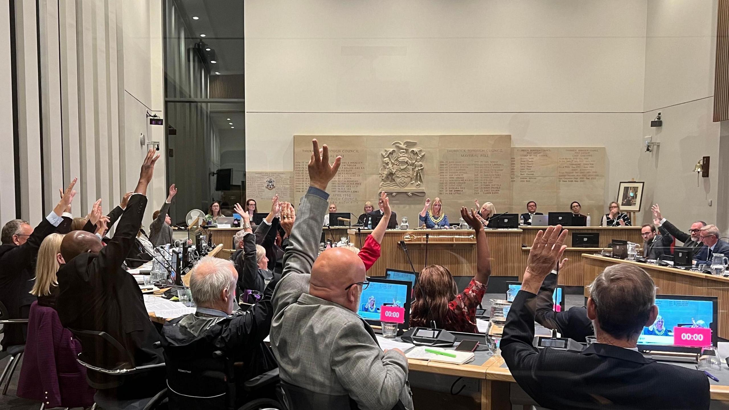
{"label": "purple jacket draped over chair at lower left", "polygon": [[58,312],[33,302],[28,320],[18,397],[42,401],[46,408],[91,406],[95,390],[86,382],[86,368],[76,361],[81,344],[63,328]]}

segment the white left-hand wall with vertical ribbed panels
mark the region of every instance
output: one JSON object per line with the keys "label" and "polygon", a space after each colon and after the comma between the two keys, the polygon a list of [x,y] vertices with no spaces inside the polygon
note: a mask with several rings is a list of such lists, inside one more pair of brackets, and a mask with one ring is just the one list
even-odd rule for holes
{"label": "white left-hand wall with vertical ribbed panels", "polygon": [[[85,216],[97,198],[108,212],[139,178],[146,153],[140,134],[163,140],[163,128],[150,127],[146,116],[163,110],[161,1],[40,0],[36,10],[36,1],[22,0],[15,6],[22,197],[20,209],[14,198],[1,198],[3,222],[20,214],[38,223],[58,202],[58,188],[74,177],[74,215]],[[9,36],[0,42],[0,50],[9,49]],[[12,115],[11,104],[0,109]],[[12,127],[1,139],[12,150]],[[165,198],[164,155],[156,170],[147,223]]]}

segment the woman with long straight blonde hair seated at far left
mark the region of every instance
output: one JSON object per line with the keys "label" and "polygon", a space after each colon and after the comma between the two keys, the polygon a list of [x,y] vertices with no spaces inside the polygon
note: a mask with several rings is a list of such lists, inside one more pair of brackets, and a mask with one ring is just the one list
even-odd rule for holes
{"label": "woman with long straight blonde hair seated at far left", "polygon": [[61,233],[51,233],[43,239],[36,259],[36,279],[31,294],[38,297],[40,306],[55,309],[55,298],[58,297],[58,279],[55,274],[66,263],[61,256]]}

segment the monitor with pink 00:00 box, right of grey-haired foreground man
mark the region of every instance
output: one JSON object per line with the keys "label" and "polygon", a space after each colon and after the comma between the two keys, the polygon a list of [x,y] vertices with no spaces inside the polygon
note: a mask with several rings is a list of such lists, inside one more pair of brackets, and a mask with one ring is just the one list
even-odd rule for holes
{"label": "monitor with pink 00:00 box, right of grey-haired foreground man", "polygon": [[643,328],[638,349],[694,353],[709,344],[717,346],[718,304],[716,296],[655,295],[658,317]]}

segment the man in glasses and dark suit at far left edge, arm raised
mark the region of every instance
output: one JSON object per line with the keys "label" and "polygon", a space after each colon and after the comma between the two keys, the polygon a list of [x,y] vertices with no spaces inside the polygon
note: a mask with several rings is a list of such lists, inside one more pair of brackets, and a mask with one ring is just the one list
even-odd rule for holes
{"label": "man in glasses and dark suit at far left edge, arm raised", "polygon": [[[0,245],[0,301],[5,305],[10,319],[25,319],[36,300],[29,292],[33,288],[35,260],[38,249],[46,236],[54,233],[63,223],[66,209],[76,195],[76,179],[61,196],[53,211],[34,229],[24,220],[11,220],[2,228]],[[26,343],[26,325],[5,325],[2,346]]]}

